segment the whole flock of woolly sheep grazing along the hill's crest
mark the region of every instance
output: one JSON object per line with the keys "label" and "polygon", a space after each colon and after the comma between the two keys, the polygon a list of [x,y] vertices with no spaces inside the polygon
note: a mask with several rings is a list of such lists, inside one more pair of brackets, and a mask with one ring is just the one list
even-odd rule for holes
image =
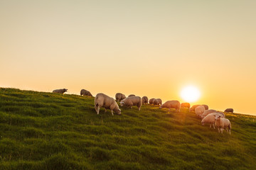
{"label": "whole flock of woolly sheep grazing along the hill's crest", "polygon": [[[53,93],[64,94],[68,89],[57,89],[54,90]],[[82,89],[80,91],[81,96],[92,96],[90,91]],[[176,109],[176,112],[179,113],[181,108],[188,108],[190,112],[196,113],[198,118],[201,118],[202,125],[210,125],[210,128],[218,128],[218,132],[223,133],[223,130],[227,130],[229,134],[231,134],[231,123],[230,120],[225,118],[225,114],[220,111],[215,111],[213,109],[208,109],[207,105],[194,105],[191,106],[190,103],[180,103],[179,101],[166,101],[162,104],[161,98],[147,98],[143,96],[142,98],[139,96],[135,96],[134,94],[129,95],[126,97],[124,94],[117,93],[115,95],[116,100],[107,96],[106,94],[97,94],[95,96],[95,111],[97,114],[100,113],[100,108],[105,108],[105,112],[107,109],[110,109],[112,115],[117,113],[121,115],[121,110],[117,102],[120,103],[120,106],[126,106],[132,108],[132,106],[137,106],[139,111],[142,107],[142,104],[146,105],[154,105],[159,106],[159,108],[168,108],[169,111],[171,109]],[[114,113],[113,113],[114,112]],[[233,113],[233,108],[227,108],[224,112],[231,112]]]}

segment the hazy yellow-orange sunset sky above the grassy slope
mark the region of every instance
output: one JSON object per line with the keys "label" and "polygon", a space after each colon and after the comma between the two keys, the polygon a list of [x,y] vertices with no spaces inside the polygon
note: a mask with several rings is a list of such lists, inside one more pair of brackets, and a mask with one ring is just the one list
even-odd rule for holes
{"label": "hazy yellow-orange sunset sky above the grassy slope", "polygon": [[256,1],[0,0],[0,87],[117,92],[256,115]]}

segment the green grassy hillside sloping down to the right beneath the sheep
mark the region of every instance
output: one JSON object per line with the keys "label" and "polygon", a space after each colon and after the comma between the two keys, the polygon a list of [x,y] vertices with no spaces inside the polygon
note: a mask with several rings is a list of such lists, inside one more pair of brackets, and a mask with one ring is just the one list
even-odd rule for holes
{"label": "green grassy hillside sloping down to the right beneath the sheep", "polygon": [[0,169],[255,169],[256,117],[231,135],[154,106],[97,115],[94,98],[0,89]]}

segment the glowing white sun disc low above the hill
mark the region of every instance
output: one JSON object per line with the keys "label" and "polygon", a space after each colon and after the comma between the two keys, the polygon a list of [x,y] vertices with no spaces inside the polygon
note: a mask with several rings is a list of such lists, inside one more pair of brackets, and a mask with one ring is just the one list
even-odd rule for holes
{"label": "glowing white sun disc low above the hill", "polygon": [[195,86],[186,86],[181,91],[181,98],[186,102],[195,102],[200,98],[201,93]]}

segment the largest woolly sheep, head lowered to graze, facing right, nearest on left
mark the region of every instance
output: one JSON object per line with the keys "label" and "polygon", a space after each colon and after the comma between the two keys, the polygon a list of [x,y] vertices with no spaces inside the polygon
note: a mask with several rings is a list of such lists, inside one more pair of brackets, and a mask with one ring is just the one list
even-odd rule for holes
{"label": "largest woolly sheep, head lowered to graze, facing right, nearest on left", "polygon": [[121,110],[119,109],[117,102],[114,101],[114,98],[101,93],[95,96],[95,111],[97,112],[97,115],[100,113],[100,108],[105,108],[105,113],[107,112],[107,109],[110,109],[112,115],[114,115],[113,111],[114,113],[121,115]]}

